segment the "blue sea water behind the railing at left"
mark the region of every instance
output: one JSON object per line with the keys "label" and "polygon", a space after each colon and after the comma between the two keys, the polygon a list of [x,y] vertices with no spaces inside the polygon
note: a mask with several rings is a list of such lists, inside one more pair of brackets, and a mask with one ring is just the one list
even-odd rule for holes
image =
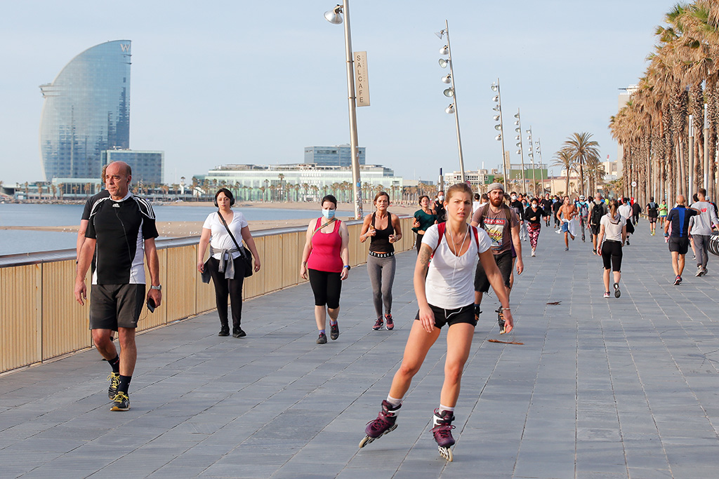
{"label": "blue sea water behind the railing at left", "polygon": [[[204,221],[214,207],[153,205],[158,221]],[[247,220],[294,220],[319,216],[319,208],[235,208]],[[83,205],[0,204],[0,226],[68,226],[68,231],[0,230],[0,255],[75,248]]]}

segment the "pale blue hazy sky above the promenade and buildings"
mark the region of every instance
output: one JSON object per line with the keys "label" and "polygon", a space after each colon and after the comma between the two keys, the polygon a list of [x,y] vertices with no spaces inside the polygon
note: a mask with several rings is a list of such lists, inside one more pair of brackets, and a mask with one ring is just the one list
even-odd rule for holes
{"label": "pale blue hazy sky above the promenade and buildings", "polygon": [[[130,148],[164,151],[168,183],[221,164],[301,163],[304,147],[349,144],[344,33],[324,19],[336,1],[1,2],[0,180],[43,179],[38,85],[116,39],[132,40]],[[445,42],[434,34],[445,19],[465,170],[500,167],[497,78],[513,163],[518,108],[545,163],[582,131],[615,161],[608,124],[619,88],[644,75],[654,29],[674,4],[351,0],[352,50],[367,51],[371,105],[357,108],[367,164],[435,182],[440,168],[459,170],[442,94],[449,69],[437,63]]]}

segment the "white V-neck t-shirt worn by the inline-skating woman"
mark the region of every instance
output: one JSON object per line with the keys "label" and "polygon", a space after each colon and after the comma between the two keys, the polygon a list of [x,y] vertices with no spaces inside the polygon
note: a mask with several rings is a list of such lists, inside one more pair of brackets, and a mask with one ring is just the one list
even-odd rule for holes
{"label": "white V-neck t-shirt worn by the inline-skating woman", "polygon": [[[427,302],[432,306],[454,310],[475,303],[477,254],[484,253],[491,248],[492,240],[486,231],[477,228],[477,237],[480,243],[479,251],[477,251],[477,242],[474,236],[475,233],[470,227],[465,240],[470,241],[470,247],[462,256],[454,256],[446,238],[442,238],[439,248],[434,251],[425,282]],[[431,225],[424,233],[422,244],[434,249],[438,238],[437,225]]]}

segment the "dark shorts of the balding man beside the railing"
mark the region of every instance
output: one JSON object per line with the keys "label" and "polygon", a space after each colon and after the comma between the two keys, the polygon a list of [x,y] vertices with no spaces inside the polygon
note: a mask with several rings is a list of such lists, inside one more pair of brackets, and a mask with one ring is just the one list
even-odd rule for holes
{"label": "dark shorts of the balding man beside the railing", "polygon": [[93,284],[90,290],[90,329],[137,327],[145,284]]}

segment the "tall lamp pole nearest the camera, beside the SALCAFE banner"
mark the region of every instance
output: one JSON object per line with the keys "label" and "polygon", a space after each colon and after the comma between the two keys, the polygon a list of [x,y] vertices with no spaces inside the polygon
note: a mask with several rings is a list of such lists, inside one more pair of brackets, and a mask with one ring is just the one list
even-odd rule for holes
{"label": "tall lamp pole nearest the camera, beside the SALCAFE banner", "polygon": [[359,179],[359,149],[357,148],[357,102],[354,96],[354,63],[352,61],[352,36],[349,30],[349,0],[327,11],[327,22],[341,24],[344,14],[344,59],[347,62],[347,103],[349,106],[349,149],[352,154],[352,193],[354,194],[354,218],[362,218],[362,185]]}

